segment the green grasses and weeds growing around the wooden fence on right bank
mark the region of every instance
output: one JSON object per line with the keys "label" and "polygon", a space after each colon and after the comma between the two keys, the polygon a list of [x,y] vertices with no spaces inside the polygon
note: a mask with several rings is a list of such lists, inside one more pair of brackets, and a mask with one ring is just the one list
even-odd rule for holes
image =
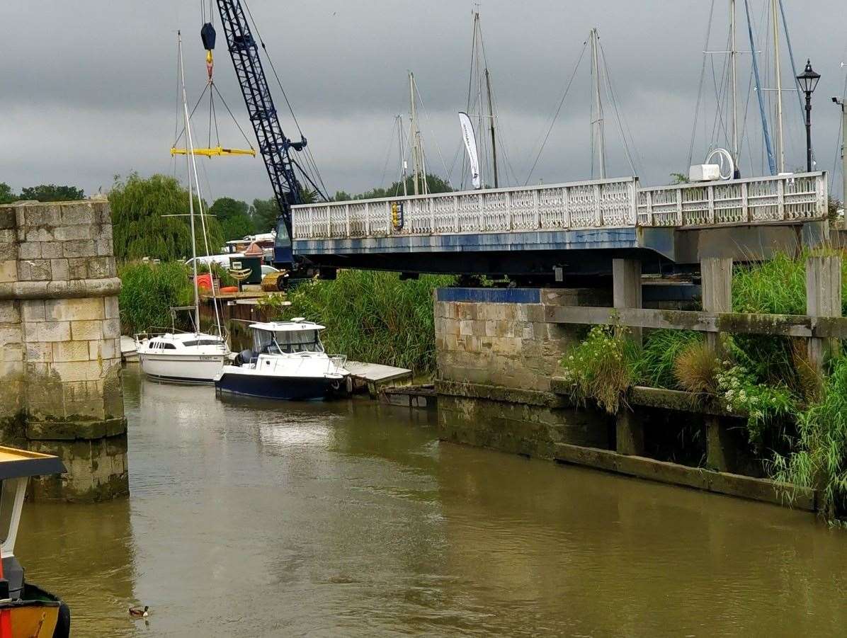
{"label": "green grasses and weeds growing around the wooden fence on right bank", "polygon": [[[842,274],[847,302],[847,267]],[[847,304],[845,304],[847,305]],[[736,268],[733,308],[805,314],[805,255]],[[847,310],[847,308],[844,308]],[[615,325],[593,327],[562,359],[573,397],[617,413],[631,386],[694,392],[741,415],[750,451],[773,479],[821,491],[828,518],[847,515],[847,356],[821,375],[805,340],[723,336],[721,356],[703,336],[652,330],[643,346]],[[615,395],[615,396],[612,396]]]}

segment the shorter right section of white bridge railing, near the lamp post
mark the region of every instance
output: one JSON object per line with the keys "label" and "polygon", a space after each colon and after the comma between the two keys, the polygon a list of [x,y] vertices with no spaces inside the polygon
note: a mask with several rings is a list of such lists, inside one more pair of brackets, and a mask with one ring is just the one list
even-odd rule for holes
{"label": "shorter right section of white bridge railing, near the lamp post", "polygon": [[826,219],[826,173],[680,184],[638,191],[639,226],[797,223]]}

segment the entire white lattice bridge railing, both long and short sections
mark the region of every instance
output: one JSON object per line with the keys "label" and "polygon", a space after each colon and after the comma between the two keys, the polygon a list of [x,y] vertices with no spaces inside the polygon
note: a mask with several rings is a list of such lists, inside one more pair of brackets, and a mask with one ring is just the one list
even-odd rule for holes
{"label": "entire white lattice bridge railing, both long and short sections", "polygon": [[826,219],[826,173],[639,188],[638,180],[385,197],[292,207],[296,240]]}

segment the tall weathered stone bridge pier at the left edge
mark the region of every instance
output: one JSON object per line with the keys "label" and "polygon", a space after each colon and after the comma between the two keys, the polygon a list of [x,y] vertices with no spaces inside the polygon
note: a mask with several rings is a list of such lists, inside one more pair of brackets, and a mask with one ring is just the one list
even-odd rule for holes
{"label": "tall weathered stone bridge pier at the left edge", "polygon": [[108,202],[0,206],[0,441],[57,454],[36,499],[129,492]]}

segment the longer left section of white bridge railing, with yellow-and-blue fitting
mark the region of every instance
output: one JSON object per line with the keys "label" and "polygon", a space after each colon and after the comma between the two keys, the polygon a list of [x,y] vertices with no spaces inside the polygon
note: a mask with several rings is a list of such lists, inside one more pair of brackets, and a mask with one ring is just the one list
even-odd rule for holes
{"label": "longer left section of white bridge railing, with yellow-and-blue fitting", "polygon": [[638,180],[385,197],[292,208],[294,239],[625,228]]}

